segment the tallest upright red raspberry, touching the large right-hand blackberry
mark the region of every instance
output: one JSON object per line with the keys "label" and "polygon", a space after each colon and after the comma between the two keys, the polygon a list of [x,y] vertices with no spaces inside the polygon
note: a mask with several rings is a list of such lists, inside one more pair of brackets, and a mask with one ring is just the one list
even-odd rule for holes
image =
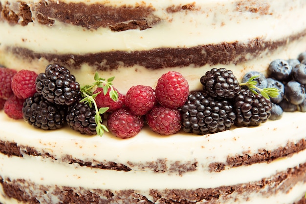
{"label": "tallest upright red raspberry, touching the large right-hand blackberry", "polygon": [[158,79],[155,92],[162,106],[178,108],[187,100],[189,84],[180,73],[170,71]]}

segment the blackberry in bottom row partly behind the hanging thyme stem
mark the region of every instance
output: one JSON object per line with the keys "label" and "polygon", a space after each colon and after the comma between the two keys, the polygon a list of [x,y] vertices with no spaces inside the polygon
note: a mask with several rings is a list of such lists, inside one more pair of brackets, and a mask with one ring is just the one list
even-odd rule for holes
{"label": "blackberry in bottom row partly behind the hanging thyme stem", "polygon": [[81,134],[95,135],[97,134],[95,115],[94,106],[89,107],[88,103],[76,102],[68,107],[66,121],[71,129]]}

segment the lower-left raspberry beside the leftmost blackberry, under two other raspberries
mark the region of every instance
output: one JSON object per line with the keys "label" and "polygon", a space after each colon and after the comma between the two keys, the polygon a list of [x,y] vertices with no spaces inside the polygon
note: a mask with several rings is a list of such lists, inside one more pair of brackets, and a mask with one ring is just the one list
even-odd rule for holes
{"label": "lower-left raspberry beside the leftmost blackberry, under two other raspberries", "polygon": [[10,96],[4,103],[4,112],[15,120],[22,119],[23,102],[24,99],[19,99],[15,95]]}

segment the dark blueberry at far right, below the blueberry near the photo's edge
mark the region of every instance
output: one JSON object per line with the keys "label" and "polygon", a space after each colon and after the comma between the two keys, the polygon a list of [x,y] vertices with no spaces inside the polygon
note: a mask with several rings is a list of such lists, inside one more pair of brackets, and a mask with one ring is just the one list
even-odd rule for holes
{"label": "dark blueberry at far right, below the blueberry near the photo's edge", "polygon": [[285,85],[285,97],[292,104],[298,105],[305,100],[305,87],[303,84],[290,81]]}

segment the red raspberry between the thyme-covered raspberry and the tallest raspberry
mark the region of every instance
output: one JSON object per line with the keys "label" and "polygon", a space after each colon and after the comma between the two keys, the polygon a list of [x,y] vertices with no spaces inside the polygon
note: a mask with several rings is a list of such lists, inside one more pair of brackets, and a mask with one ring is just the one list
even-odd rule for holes
{"label": "red raspberry between the thyme-covered raspberry and the tallest raspberry", "polygon": [[134,115],[145,115],[154,106],[156,102],[155,91],[150,86],[137,85],[132,86],[125,99],[125,105],[128,106]]}

